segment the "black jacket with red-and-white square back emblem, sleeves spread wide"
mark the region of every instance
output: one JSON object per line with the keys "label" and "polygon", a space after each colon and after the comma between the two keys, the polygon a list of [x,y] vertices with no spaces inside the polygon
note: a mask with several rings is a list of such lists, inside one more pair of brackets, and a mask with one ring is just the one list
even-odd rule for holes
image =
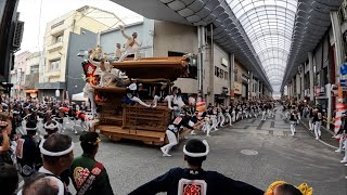
{"label": "black jacket with red-and-white square back emblem, sleeves spread wide", "polygon": [[232,180],[216,171],[174,168],[145,183],[130,195],[152,195],[167,192],[168,195],[264,195],[264,191],[247,183]]}

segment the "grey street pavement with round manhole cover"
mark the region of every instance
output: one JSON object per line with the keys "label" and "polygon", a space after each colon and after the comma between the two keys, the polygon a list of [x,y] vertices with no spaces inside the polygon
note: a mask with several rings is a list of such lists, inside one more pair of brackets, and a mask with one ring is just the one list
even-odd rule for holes
{"label": "grey street pavement with round manhole cover", "polygon": [[[206,138],[201,132],[188,139],[206,139],[210,153],[203,167],[216,170],[266,190],[270,183],[284,180],[294,185],[307,182],[314,195],[346,195],[347,167],[339,164],[342,154],[314,140],[305,126],[297,126],[291,136],[290,125],[280,115],[267,121],[244,119],[232,127],[220,128]],[[78,134],[65,130],[78,143]],[[185,167],[181,140],[171,157],[163,157],[158,146],[137,141],[113,142],[102,136],[97,160],[104,164],[114,193],[128,194],[141,184],[174,167]],[[81,155],[77,144],[75,156]]]}

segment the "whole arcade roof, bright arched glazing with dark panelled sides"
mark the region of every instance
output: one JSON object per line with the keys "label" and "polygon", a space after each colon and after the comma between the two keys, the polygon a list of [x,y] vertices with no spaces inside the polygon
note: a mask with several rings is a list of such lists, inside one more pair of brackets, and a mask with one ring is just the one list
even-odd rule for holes
{"label": "whole arcade roof, bright arched glazing with dark panelled sides", "polygon": [[235,53],[270,90],[280,91],[322,38],[331,24],[329,13],[343,0],[113,1],[149,18],[213,24],[214,40]]}

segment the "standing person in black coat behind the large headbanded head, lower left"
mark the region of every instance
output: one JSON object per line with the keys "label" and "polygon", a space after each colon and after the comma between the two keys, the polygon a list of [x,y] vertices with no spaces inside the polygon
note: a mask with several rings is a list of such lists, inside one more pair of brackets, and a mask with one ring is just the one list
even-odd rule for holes
{"label": "standing person in black coat behind the large headbanded head, lower left", "polygon": [[21,176],[26,180],[41,164],[41,154],[38,147],[38,142],[35,140],[37,126],[35,121],[26,123],[26,135],[23,135],[16,141],[15,154]]}

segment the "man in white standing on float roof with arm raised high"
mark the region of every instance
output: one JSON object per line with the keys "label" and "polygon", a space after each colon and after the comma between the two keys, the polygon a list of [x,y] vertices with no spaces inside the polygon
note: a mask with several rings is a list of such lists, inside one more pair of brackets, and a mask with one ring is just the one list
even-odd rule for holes
{"label": "man in white standing on float roof with arm raised high", "polygon": [[128,55],[130,54],[134,54],[133,60],[137,61],[139,60],[139,47],[141,47],[140,43],[138,43],[138,41],[136,40],[138,38],[138,34],[133,32],[131,37],[127,36],[124,32],[124,26],[119,26],[121,35],[124,38],[127,39],[126,43],[125,43],[125,52],[121,55],[121,57],[118,60],[118,62],[123,62],[124,58],[126,58]]}

